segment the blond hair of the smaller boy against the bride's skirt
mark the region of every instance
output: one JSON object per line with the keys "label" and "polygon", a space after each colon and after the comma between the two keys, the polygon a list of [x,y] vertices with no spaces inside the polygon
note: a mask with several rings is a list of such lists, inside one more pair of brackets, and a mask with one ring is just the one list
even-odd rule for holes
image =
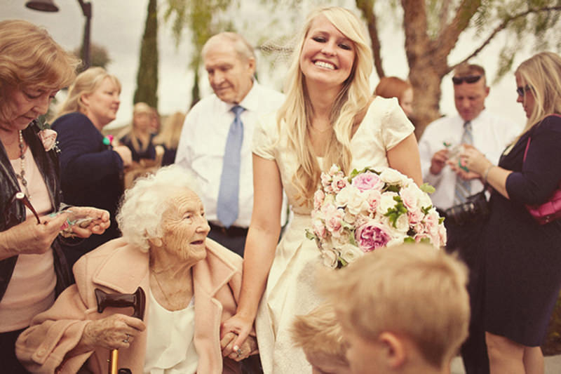
{"label": "blond hair of the smaller boy against the bride's skirt", "polygon": [[296,345],[304,349],[306,356],[349,366],[343,331],[331,305],[323,304],[309,314],[296,316],[292,323],[292,337]]}

